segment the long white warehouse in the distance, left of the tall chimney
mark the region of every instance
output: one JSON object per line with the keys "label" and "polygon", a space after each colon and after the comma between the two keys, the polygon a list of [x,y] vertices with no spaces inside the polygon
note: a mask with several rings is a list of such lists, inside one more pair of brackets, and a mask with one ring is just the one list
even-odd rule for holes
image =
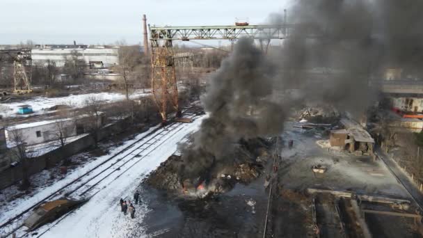
{"label": "long white warehouse in the distance, left of the tall chimney", "polygon": [[87,45],[36,45],[31,51],[33,64],[45,65],[47,61],[63,67],[67,58],[75,54],[87,65],[107,68],[119,63],[119,47],[88,47]]}

